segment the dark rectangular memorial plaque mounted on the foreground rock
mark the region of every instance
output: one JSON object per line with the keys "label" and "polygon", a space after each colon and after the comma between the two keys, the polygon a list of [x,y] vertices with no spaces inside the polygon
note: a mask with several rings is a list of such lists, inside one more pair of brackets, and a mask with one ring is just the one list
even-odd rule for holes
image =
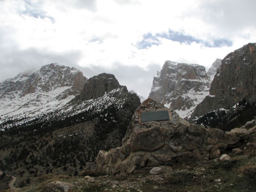
{"label": "dark rectangular memorial plaque mounted on the foreground rock", "polygon": [[147,121],[169,121],[169,113],[168,111],[150,111],[150,112],[141,112],[140,113],[140,122]]}

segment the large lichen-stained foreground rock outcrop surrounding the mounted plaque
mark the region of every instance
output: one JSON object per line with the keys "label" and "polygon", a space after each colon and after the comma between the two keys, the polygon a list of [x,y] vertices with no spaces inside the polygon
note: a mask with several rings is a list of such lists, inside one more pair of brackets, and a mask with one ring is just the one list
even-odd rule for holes
{"label": "large lichen-stained foreground rock outcrop surrounding the mounted plaque", "polygon": [[[141,123],[140,114],[166,110],[169,121]],[[246,129],[224,132],[189,124],[175,111],[152,99],[145,100],[132,116],[122,140],[122,147],[100,151],[97,169],[108,174],[127,174],[144,167],[192,166],[200,161],[220,156],[221,151],[234,147],[249,137]]]}

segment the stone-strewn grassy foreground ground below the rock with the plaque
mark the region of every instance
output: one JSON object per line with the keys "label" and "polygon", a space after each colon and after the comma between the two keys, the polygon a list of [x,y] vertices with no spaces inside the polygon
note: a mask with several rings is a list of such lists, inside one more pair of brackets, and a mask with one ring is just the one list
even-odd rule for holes
{"label": "stone-strewn grassy foreground ground below the rock with the plaque", "polygon": [[[108,176],[95,171],[84,171],[76,177],[46,174],[32,178],[31,185],[15,191],[255,191],[256,133],[239,148],[240,154],[226,151],[231,157],[229,160],[212,159],[194,167],[180,165],[163,174],[149,174],[150,169],[124,176]],[[52,183],[54,181],[58,182]]]}

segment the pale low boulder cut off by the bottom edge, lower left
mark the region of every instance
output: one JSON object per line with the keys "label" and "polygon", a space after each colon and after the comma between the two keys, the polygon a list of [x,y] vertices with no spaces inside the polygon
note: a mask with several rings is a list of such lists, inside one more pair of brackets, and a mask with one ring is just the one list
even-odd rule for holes
{"label": "pale low boulder cut off by the bottom edge, lower left", "polygon": [[45,186],[43,192],[71,192],[73,185],[68,182],[54,181]]}

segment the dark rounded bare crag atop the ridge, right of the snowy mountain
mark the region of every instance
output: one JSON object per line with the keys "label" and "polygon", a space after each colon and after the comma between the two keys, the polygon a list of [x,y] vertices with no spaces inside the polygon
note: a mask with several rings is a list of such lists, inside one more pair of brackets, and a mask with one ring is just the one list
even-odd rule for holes
{"label": "dark rounded bare crag atop the ridge, right of the snowy mountain", "polygon": [[[97,99],[113,89],[121,88],[116,77],[112,74],[102,73],[88,79],[81,93],[73,101]],[[125,87],[126,89],[126,87]],[[126,89],[127,91],[127,89]]]}

